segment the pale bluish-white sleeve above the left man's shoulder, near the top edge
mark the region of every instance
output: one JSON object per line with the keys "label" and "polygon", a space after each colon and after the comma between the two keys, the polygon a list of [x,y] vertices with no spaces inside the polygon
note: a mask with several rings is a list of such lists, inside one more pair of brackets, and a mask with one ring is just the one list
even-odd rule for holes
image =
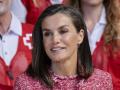
{"label": "pale bluish-white sleeve above the left man's shoulder, near the top edge", "polygon": [[27,12],[21,0],[13,0],[11,10],[22,23],[26,22]]}

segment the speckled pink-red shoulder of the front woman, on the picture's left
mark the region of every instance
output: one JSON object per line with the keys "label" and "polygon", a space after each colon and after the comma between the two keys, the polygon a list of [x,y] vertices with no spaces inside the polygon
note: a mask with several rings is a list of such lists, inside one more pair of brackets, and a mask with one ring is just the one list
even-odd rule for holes
{"label": "speckled pink-red shoulder of the front woman, on the picture's left", "polygon": [[41,82],[28,76],[26,73],[23,73],[16,78],[14,90],[34,90],[34,89],[42,89]]}

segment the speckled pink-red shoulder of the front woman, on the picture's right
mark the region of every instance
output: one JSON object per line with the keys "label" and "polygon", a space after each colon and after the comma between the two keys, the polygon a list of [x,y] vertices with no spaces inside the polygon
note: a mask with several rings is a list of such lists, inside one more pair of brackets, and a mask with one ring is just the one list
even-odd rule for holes
{"label": "speckled pink-red shoulder of the front woman, on the picture's right", "polygon": [[92,90],[113,90],[111,75],[99,69],[94,69],[93,74],[87,80],[79,82],[79,88]]}

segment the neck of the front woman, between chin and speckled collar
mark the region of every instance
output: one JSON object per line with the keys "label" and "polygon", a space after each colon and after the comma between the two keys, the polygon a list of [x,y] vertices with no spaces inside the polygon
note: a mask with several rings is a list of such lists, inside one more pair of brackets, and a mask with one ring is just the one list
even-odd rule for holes
{"label": "neck of the front woman, between chin and speckled collar", "polygon": [[53,62],[52,70],[58,75],[71,76],[77,74],[77,58],[63,62]]}

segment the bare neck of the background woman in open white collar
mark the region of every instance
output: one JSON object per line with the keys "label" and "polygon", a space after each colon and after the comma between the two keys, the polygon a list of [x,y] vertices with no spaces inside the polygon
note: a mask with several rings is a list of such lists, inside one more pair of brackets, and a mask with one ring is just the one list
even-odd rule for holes
{"label": "bare neck of the background woman in open white collar", "polygon": [[95,24],[99,21],[103,4],[97,6],[82,5],[84,20],[86,22],[88,30],[92,31]]}

